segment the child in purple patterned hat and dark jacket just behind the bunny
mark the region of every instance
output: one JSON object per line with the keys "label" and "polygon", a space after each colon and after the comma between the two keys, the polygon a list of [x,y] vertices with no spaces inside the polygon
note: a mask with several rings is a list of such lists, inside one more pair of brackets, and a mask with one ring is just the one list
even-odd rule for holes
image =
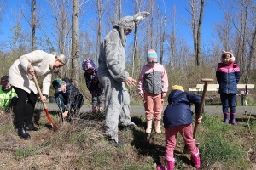
{"label": "child in purple patterned hat and dark jacket just behind the bunny", "polygon": [[103,88],[97,77],[97,67],[91,59],[84,59],[82,63],[86,86],[91,94],[92,111],[103,111]]}

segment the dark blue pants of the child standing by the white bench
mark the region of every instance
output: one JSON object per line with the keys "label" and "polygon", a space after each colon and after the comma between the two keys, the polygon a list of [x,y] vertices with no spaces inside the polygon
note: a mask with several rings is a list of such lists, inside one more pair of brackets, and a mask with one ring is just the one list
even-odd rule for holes
{"label": "dark blue pants of the child standing by the white bench", "polygon": [[220,99],[224,113],[236,113],[236,94],[220,94]]}

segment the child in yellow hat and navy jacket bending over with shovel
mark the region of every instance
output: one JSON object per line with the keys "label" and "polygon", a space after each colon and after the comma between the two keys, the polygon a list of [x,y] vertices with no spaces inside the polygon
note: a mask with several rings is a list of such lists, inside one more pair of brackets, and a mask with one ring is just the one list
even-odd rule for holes
{"label": "child in yellow hat and navy jacket bending over with shovel", "polygon": [[[199,149],[193,139],[193,112],[190,104],[195,104],[195,114],[199,114],[201,97],[196,94],[184,92],[182,86],[174,85],[168,96],[168,105],[164,111],[164,127],[166,134],[166,165],[157,167],[157,170],[174,168],[174,149],[176,146],[177,133],[183,137],[191,154],[191,161],[195,168],[200,167]],[[201,122],[201,117],[197,120]]]}

